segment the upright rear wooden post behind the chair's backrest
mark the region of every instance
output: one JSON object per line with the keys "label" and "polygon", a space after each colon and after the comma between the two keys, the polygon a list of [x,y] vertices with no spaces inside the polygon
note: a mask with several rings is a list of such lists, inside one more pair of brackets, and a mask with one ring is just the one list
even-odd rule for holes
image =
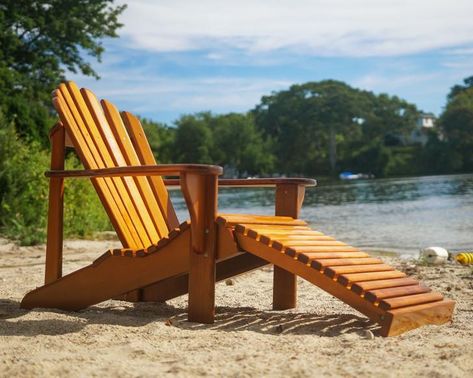
{"label": "upright rear wooden post behind the chair's backrest", "polygon": [[[51,133],[51,169],[64,169],[65,130],[61,123]],[[62,276],[62,229],[64,212],[64,180],[56,178],[49,182],[48,240],[46,244],[46,268],[44,283]]]}

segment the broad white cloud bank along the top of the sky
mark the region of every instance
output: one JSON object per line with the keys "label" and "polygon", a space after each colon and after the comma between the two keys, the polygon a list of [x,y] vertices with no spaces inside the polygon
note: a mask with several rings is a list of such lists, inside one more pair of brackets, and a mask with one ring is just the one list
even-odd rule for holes
{"label": "broad white cloud bank along the top of the sky", "polygon": [[396,56],[473,43],[471,14],[471,0],[134,0],[121,35],[159,52]]}

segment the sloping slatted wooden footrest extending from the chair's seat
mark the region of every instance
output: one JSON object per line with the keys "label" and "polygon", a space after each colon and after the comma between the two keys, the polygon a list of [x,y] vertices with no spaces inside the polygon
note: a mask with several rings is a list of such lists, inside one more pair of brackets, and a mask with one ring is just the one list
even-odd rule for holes
{"label": "sloping slatted wooden footrest extending from the chair's seat", "polygon": [[[451,320],[455,302],[358,248],[305,222],[279,224],[243,219],[232,225],[240,248],[312,282],[381,325],[394,336]],[[282,218],[282,217],[281,217]]]}

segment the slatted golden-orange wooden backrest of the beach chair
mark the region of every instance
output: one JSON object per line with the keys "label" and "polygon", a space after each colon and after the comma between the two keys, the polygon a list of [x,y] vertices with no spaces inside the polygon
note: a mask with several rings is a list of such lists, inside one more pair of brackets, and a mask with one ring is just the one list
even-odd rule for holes
{"label": "slatted golden-orange wooden backrest of the beach chair", "polygon": [[[53,104],[87,169],[155,164],[139,120],[72,82]],[[151,154],[151,155],[150,155]],[[146,248],[178,224],[161,177],[95,178],[92,183],[124,247]]]}

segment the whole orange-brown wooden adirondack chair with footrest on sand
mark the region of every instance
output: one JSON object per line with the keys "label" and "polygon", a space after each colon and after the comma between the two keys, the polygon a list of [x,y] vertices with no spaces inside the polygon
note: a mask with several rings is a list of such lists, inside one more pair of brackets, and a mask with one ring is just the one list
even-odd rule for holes
{"label": "whole orange-brown wooden adirondack chair with footrest on sand", "polygon": [[[157,165],[138,118],[72,82],[53,93],[45,284],[21,306],[79,310],[111,298],[165,301],[188,294],[188,319],[214,321],[215,283],[274,264],[273,308],[296,306],[296,276],[397,335],[452,317],[454,302],[299,219],[310,179],[219,180],[222,168]],[[85,169],[64,170],[72,147]],[[163,176],[177,176],[163,180]],[[62,276],[63,183],[90,178],[123,248]],[[190,221],[178,224],[166,185],[180,185]],[[275,216],[219,214],[223,186],[271,186]]]}

